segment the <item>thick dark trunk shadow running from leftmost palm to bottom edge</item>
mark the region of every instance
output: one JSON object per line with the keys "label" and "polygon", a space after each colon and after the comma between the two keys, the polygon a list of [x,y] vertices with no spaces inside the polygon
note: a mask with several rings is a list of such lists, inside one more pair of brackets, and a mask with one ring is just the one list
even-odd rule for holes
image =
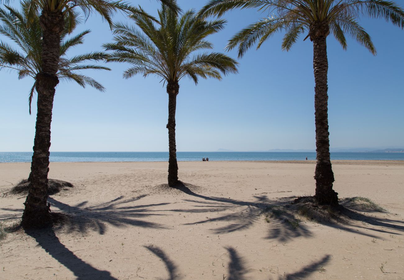
{"label": "thick dark trunk shadow running from leftmost palm to bottom edge", "polygon": [[55,235],[52,228],[42,230],[25,230],[27,235],[35,238],[38,245],[41,246],[50,256],[67,269],[74,273],[78,280],[105,279],[116,280],[111,274],[105,270],[99,270],[86,263],[68,248],[63,245],[59,238]]}

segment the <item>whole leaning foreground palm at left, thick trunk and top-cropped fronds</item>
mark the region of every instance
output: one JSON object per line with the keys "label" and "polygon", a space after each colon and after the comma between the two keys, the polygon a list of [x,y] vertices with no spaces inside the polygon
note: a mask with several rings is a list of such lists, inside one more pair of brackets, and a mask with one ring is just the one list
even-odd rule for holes
{"label": "whole leaning foreground palm at left, thick trunk and top-cropped fronds", "polygon": [[[171,0],[160,0],[179,11]],[[32,155],[29,193],[25,200],[22,225],[46,227],[52,224],[49,204],[46,205],[49,172],[50,123],[52,121],[57,72],[60,61],[61,34],[76,25],[78,9],[87,17],[95,12],[112,26],[112,15],[118,11],[140,13],[122,0],[28,0],[28,21],[39,17],[42,28],[42,65],[36,75],[38,110],[35,126],[34,154]],[[67,22],[67,23],[66,23]],[[66,26],[68,28],[66,28]]]}

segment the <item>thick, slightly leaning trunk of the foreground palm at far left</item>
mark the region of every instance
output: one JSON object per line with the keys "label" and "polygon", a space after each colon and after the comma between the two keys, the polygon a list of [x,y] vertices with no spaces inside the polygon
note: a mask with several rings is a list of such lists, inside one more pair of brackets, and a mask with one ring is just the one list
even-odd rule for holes
{"label": "thick, slightly leaning trunk of the foreground palm at far left", "polygon": [[47,227],[52,224],[48,198],[50,123],[52,121],[55,87],[59,83],[57,70],[60,53],[60,34],[64,28],[60,12],[42,11],[42,72],[36,76],[38,112],[36,115],[34,154],[32,155],[29,193],[25,200],[22,225],[25,228]]}

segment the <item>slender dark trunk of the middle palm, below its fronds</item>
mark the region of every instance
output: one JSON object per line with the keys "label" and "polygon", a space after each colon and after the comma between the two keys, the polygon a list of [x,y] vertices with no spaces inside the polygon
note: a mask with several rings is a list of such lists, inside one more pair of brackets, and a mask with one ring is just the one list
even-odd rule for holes
{"label": "slender dark trunk of the middle palm, below its fronds", "polygon": [[179,84],[177,81],[168,82],[168,185],[170,187],[175,187],[178,183],[177,146],[175,145],[175,109],[178,91]]}

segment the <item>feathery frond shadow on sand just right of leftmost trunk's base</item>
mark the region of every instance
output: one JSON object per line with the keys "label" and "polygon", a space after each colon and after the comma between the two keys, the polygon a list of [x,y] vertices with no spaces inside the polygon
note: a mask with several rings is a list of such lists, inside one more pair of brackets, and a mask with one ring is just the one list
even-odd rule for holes
{"label": "feathery frond shadow on sand just right of leftmost trunk's base", "polygon": [[91,229],[93,231],[98,231],[99,234],[104,234],[106,231],[106,224],[115,227],[134,226],[160,229],[165,228],[158,223],[144,221],[142,218],[164,215],[156,213],[158,210],[154,210],[154,207],[169,203],[145,205],[133,204],[133,202],[137,202],[145,196],[146,195],[141,195],[130,199],[124,199],[123,196],[120,196],[109,202],[103,202],[91,206],[88,205],[87,201],[71,206],[59,202],[53,197],[49,197],[48,202],[58,208],[61,211],[59,213],[63,213],[64,218],[61,219],[62,223],[55,226],[63,227],[67,233],[72,233],[73,231],[86,232]]}

